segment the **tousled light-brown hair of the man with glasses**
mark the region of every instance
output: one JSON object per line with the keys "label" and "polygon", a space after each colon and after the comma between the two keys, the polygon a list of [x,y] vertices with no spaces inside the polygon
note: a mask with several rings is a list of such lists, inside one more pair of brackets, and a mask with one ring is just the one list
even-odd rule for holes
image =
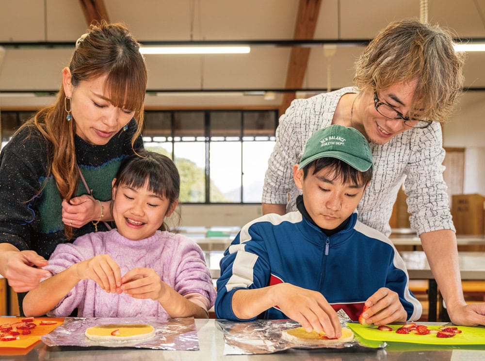
{"label": "tousled light-brown hair of the man with glasses", "polygon": [[417,79],[409,117],[444,122],[463,87],[465,53],[455,52],[452,35],[418,19],[391,22],[356,62],[354,82],[363,92]]}

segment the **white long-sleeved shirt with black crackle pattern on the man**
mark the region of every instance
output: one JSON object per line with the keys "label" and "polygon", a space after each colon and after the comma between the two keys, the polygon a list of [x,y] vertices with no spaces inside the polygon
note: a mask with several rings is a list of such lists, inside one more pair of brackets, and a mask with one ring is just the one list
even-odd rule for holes
{"label": "white long-sleeved shirt with black crackle pattern on the man", "polygon": [[[323,93],[307,99],[295,99],[279,118],[276,143],[268,161],[262,203],[287,204],[287,212],[296,210],[301,191],[293,182],[293,165],[299,163],[308,138],[332,124],[342,95],[356,93],[353,87]],[[357,206],[358,219],[386,236],[389,218],[399,188],[404,181],[411,228],[418,234],[433,230],[453,230],[442,165],[441,126],[437,122],[426,129],[409,129],[386,144],[371,142],[372,181]]]}

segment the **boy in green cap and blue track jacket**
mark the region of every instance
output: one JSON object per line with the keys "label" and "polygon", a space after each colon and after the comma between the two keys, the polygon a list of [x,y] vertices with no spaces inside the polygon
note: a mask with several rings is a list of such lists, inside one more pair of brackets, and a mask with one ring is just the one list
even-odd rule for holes
{"label": "boy in green cap and blue track jacket", "polygon": [[340,125],[314,133],[293,179],[303,191],[298,211],[266,214],[246,224],[221,260],[218,318],[299,322],[340,337],[336,311],[384,325],[417,320],[420,302],[408,288],[392,242],[357,221],[356,207],[372,177],[365,137]]}

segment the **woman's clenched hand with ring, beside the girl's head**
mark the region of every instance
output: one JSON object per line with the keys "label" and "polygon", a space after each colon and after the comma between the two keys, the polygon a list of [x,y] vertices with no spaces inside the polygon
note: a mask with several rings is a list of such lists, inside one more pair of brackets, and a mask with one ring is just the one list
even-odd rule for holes
{"label": "woman's clenched hand with ring, beside the girl's head", "polygon": [[[81,228],[92,220],[98,220],[101,205],[92,196],[82,195],[62,201],[62,221],[66,226]],[[104,219],[104,218],[103,218]]]}

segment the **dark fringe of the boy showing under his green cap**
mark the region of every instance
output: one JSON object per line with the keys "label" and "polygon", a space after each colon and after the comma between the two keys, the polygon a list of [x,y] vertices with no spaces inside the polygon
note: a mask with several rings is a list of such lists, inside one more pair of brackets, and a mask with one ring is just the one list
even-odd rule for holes
{"label": "dark fringe of the boy showing under his green cap", "polygon": [[312,169],[314,175],[324,168],[328,168],[333,175],[331,181],[340,180],[343,184],[352,184],[358,187],[364,186],[372,179],[372,166],[366,171],[359,171],[349,164],[337,158],[318,158],[303,167],[303,179],[307,178]]}

